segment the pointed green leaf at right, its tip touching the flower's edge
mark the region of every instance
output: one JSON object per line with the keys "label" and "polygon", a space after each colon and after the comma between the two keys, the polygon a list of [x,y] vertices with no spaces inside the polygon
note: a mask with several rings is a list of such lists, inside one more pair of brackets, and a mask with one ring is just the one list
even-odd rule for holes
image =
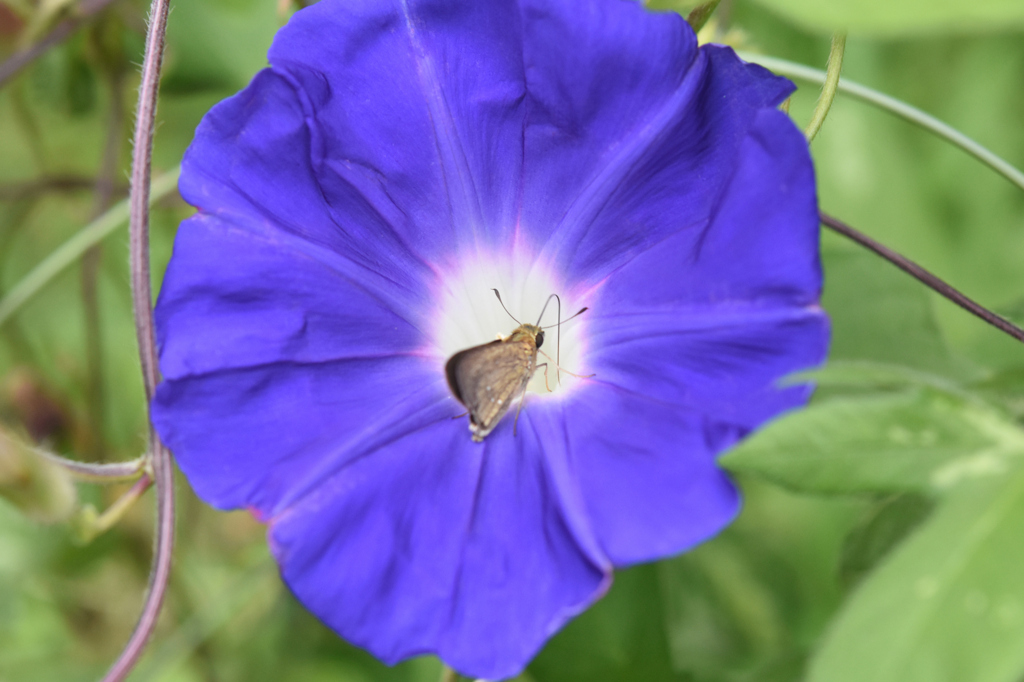
{"label": "pointed green leaf at right, its tip touching the flower's edge", "polygon": [[980,402],[922,388],[812,406],[721,462],[797,491],[929,493],[1024,463],[1024,432]]}

